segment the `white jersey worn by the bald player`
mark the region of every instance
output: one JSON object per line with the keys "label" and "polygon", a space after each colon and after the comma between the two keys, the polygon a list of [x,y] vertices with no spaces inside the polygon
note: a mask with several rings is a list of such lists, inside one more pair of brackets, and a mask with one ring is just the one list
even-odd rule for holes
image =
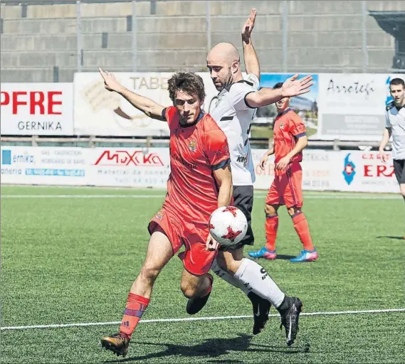
{"label": "white jersey worn by the bald player", "polygon": [[225,133],[231,154],[233,186],[251,186],[255,181],[255,171],[251,153],[249,134],[256,114],[256,108],[246,103],[246,95],[256,92],[259,80],[256,75],[233,83],[219,92],[211,117]]}

